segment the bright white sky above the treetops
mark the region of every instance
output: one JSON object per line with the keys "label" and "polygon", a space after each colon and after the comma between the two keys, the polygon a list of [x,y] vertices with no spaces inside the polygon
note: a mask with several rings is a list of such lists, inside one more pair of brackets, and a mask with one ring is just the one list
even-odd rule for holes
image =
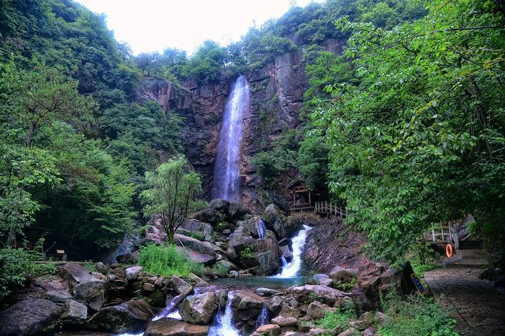
{"label": "bright white sky above the treetops", "polygon": [[[316,0],[321,2],[322,0]],[[107,26],[118,41],[140,52],[177,47],[193,52],[203,41],[221,45],[238,41],[249,27],[278,18],[290,0],[77,0],[95,13],[107,15]],[[310,0],[297,0],[305,6]]]}

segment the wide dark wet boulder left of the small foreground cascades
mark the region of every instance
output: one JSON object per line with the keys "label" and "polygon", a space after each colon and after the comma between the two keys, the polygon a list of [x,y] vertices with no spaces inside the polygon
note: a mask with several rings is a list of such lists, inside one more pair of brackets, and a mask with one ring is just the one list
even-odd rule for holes
{"label": "wide dark wet boulder left of the small foreground cascades", "polygon": [[144,300],[131,300],[100,309],[89,322],[109,332],[122,333],[144,329],[154,314],[154,309]]}

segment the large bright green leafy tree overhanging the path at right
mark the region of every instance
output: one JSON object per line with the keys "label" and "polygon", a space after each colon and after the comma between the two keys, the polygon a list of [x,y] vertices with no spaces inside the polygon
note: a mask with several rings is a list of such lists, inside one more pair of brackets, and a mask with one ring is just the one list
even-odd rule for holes
{"label": "large bright green leafy tree overhanging the path at right", "polygon": [[429,16],[390,31],[337,25],[353,31],[346,56],[361,84],[328,87],[332,100],[312,118],[325,130],[330,189],[346,201],[349,223],[393,262],[432,223],[467,213],[504,244],[505,45],[497,5],[432,2]]}

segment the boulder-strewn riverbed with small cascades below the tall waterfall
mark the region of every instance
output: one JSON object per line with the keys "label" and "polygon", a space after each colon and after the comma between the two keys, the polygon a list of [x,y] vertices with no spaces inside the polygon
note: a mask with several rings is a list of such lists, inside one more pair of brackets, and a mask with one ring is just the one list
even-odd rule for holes
{"label": "boulder-strewn riverbed with small cascades below the tall waterfall", "polygon": [[[166,240],[156,218],[149,224],[106,262],[97,262],[95,271],[67,262],[58,274],[34,279],[0,312],[0,335],[293,336],[352,335],[356,330],[374,335],[381,319],[367,311],[379,306],[379,291],[401,290],[400,272],[353,253],[346,262],[334,255],[330,265],[325,255],[335,244],[310,233],[305,239],[307,232],[321,230],[318,225],[339,228],[338,221],[285,216],[274,205],[254,216],[240,204],[214,200],[175,235],[177,248],[207,267],[202,277],[189,274],[184,279],[149,274],[137,265],[139,246]],[[301,243],[292,239],[301,237],[299,232],[304,233]],[[314,265],[312,269],[323,272],[276,276],[283,274],[283,266],[302,268],[305,241],[310,249],[304,253],[304,271]],[[216,265],[226,272],[217,274]],[[321,330],[316,325],[326,312],[342,309],[360,316],[351,329]]]}

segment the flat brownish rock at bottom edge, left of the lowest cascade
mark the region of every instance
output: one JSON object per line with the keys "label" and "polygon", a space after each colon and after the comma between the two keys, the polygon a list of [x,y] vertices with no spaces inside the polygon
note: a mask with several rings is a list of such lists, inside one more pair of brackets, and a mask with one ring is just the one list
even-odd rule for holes
{"label": "flat brownish rock at bottom edge, left of the lowest cascade", "polygon": [[144,336],[206,336],[208,325],[194,325],[175,318],[160,318],[147,325]]}

